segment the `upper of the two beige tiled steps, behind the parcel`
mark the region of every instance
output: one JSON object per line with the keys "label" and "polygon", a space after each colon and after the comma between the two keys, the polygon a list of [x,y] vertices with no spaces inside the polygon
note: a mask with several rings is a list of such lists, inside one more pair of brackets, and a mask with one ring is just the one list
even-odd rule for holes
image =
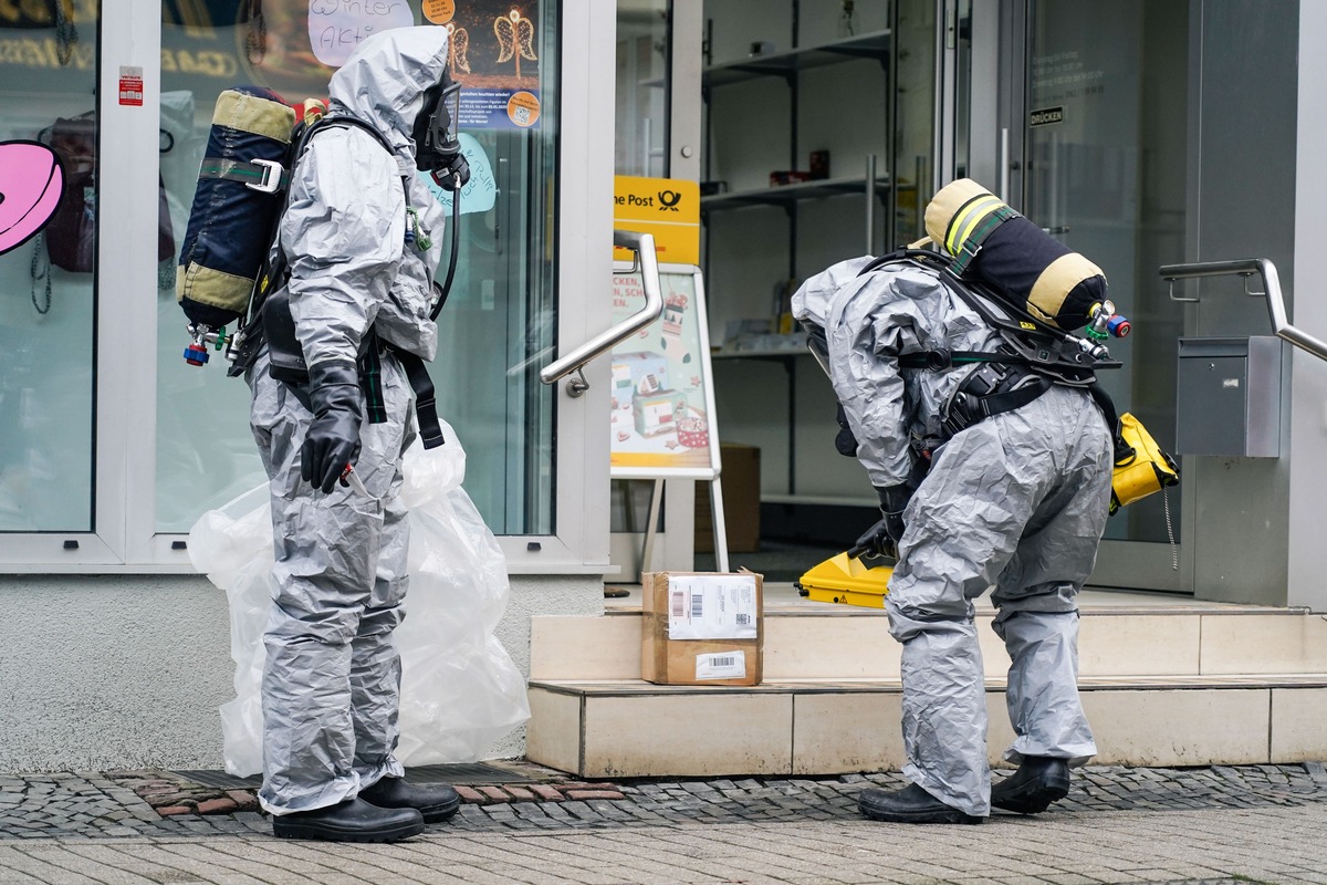
{"label": "upper of the two beige tiled steps, behind the parcel", "polygon": [[[1084,592],[1080,614],[1084,678],[1327,673],[1327,617],[1300,609]],[[1003,678],[1009,655],[993,617],[986,597],[978,600],[986,675]],[[604,617],[531,621],[531,679],[640,678],[638,598]],[[898,657],[882,610],[802,601],[791,585],[766,588],[766,681],[897,679]]]}

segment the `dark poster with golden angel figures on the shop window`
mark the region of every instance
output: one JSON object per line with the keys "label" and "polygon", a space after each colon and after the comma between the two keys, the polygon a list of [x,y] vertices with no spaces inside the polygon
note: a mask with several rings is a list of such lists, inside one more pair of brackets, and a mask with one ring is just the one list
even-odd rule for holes
{"label": "dark poster with golden angel figures on the shop window", "polygon": [[533,129],[540,65],[556,45],[544,0],[423,0],[425,17],[451,33],[451,77],[460,84],[462,129]]}

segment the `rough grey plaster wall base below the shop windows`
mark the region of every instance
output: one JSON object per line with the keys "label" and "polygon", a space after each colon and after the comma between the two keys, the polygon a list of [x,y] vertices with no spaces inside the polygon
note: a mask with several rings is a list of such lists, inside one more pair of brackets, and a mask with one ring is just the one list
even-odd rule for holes
{"label": "rough grey plaster wall base below the shop windows", "polygon": [[[511,579],[495,636],[522,673],[531,614],[601,614],[602,586]],[[3,576],[0,598],[0,772],[222,767],[235,663],[226,593],[206,577]],[[520,756],[524,735],[484,758]]]}

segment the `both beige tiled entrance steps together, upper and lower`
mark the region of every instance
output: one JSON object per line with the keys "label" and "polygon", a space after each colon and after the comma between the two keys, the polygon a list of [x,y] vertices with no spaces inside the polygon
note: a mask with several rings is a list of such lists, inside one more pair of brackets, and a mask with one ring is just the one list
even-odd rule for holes
{"label": "both beige tiled entrance steps together, upper and lower", "polygon": [[[767,585],[764,681],[640,679],[640,601],[536,617],[527,756],[583,778],[829,775],[897,770],[898,644],[881,610]],[[1327,758],[1327,618],[1303,610],[1084,592],[1080,689],[1100,764]],[[993,764],[1013,740],[1009,657],[978,601]]]}

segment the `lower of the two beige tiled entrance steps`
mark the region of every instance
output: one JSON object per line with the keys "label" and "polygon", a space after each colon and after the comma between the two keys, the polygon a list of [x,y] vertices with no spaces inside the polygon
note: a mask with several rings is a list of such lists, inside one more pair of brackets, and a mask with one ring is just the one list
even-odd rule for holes
{"label": "lower of the two beige tiled entrance steps", "polygon": [[[1327,677],[1083,679],[1095,764],[1209,766],[1327,758]],[[1014,735],[986,687],[991,764]],[[739,687],[531,682],[527,758],[583,778],[832,775],[904,763],[897,682]]]}

